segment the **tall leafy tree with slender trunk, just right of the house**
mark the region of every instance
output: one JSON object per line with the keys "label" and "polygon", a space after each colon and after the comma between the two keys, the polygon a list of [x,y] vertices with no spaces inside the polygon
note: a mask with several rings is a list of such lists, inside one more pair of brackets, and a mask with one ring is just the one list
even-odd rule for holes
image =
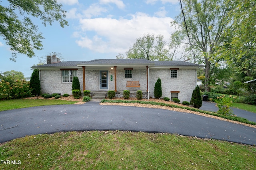
{"label": "tall leafy tree with slender trunk, just right of the house", "polygon": [[200,51],[204,58],[205,87],[210,91],[211,69],[220,61],[215,47],[224,41],[230,7],[224,0],[183,0],[181,5],[182,12],[176,17],[176,23],[186,32],[191,48]]}

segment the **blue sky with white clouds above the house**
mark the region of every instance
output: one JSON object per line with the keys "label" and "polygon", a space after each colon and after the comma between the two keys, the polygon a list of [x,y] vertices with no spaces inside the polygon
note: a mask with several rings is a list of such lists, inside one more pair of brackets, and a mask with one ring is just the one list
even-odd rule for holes
{"label": "blue sky with white clouds above the house", "polygon": [[[175,28],[172,22],[180,13],[178,0],[57,0],[66,10],[69,26],[58,22],[44,26],[35,19],[42,32],[43,49],[35,50],[35,57],[17,54],[10,61],[12,51],[0,36],[0,73],[21,71],[25,77],[32,74],[32,65],[39,57],[53,52],[61,53],[62,61],[90,61],[113,59],[126,51],[144,34],[162,34],[166,42]],[[7,6],[7,2],[1,2]],[[57,56],[58,57],[58,56]]]}

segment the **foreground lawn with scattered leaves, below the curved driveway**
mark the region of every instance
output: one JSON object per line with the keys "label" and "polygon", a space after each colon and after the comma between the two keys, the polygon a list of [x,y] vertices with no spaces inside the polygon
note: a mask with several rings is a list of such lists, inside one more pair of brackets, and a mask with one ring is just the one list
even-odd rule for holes
{"label": "foreground lawn with scattered leaves, below the curved driveway", "polygon": [[256,147],[178,134],[60,132],[0,145],[0,169],[254,169]]}

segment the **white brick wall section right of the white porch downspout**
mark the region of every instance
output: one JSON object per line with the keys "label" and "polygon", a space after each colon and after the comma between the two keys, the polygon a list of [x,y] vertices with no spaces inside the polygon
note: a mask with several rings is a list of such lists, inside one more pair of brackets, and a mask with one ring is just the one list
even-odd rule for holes
{"label": "white brick wall section right of the white porch downspout", "polygon": [[170,69],[149,70],[150,97],[154,97],[154,86],[158,79],[162,82],[162,97],[171,99],[170,91],[180,91],[179,100],[190,102],[192,92],[196,87],[196,70],[179,69],[177,78],[170,78]]}

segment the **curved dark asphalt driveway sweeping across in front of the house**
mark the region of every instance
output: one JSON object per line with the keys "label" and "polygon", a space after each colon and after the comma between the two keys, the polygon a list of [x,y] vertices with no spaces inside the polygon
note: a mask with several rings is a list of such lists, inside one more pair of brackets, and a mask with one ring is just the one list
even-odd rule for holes
{"label": "curved dark asphalt driveway sweeping across in front of the house", "polygon": [[0,142],[32,134],[60,131],[131,130],[168,132],[256,144],[256,128],[208,117],[140,107],[53,105],[0,112]]}

